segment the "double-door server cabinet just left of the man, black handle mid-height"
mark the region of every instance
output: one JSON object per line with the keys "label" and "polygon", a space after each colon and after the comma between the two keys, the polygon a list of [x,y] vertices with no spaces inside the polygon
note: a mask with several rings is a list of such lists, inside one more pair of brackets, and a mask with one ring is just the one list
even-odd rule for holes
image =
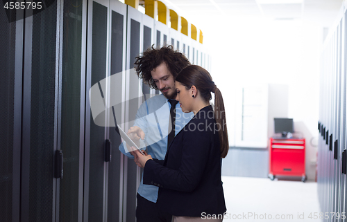
{"label": "double-door server cabinet just left of the man, black handle mid-height", "polygon": [[[123,122],[126,5],[88,1],[83,221],[124,221]],[[100,100],[91,96],[95,89]],[[121,102],[117,102],[117,101]],[[101,105],[101,113],[92,113]]]}

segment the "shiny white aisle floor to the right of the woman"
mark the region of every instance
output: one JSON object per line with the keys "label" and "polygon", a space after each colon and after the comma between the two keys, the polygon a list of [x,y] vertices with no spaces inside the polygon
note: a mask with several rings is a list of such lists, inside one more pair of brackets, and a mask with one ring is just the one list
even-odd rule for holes
{"label": "shiny white aisle floor to the right of the woman", "polygon": [[317,183],[235,176],[222,181],[228,209],[223,221],[321,221]]}

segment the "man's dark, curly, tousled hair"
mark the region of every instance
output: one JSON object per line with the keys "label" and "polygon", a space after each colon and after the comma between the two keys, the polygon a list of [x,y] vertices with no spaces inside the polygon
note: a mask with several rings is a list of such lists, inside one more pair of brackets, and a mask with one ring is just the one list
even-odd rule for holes
{"label": "man's dark, curly, tousled hair", "polygon": [[162,48],[153,48],[153,46],[154,44],[142,55],[135,58],[135,71],[142,78],[144,84],[148,84],[152,89],[158,89],[151,75],[154,68],[164,62],[175,80],[178,73],[189,66],[190,62],[185,55],[174,50],[172,46],[163,46]]}

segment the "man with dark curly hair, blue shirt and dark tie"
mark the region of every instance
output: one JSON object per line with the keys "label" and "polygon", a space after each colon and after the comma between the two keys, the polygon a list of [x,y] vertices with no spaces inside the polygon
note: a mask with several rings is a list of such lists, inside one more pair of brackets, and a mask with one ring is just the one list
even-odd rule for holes
{"label": "man with dark curly hair, blue shirt and dark tie", "polygon": [[[175,100],[175,79],[178,73],[189,66],[190,62],[172,46],[149,48],[136,57],[135,71],[144,84],[158,89],[162,94],[146,100],[137,110],[135,124],[128,130],[128,135],[139,141],[140,147],[147,147],[146,152],[158,161],[163,162],[167,147],[174,136],[192,119],[193,113],[183,113],[180,104]],[[123,143],[119,150],[128,158],[134,158],[126,151]],[[135,155],[136,156],[136,155]],[[172,215],[162,212],[156,204],[160,184],[144,185],[142,180],[137,189],[137,222],[171,222]]]}

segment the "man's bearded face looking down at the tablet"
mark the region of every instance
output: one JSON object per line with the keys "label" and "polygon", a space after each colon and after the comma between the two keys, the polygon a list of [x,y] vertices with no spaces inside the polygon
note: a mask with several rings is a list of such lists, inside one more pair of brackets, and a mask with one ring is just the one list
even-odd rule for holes
{"label": "man's bearded face looking down at the tablet", "polygon": [[167,64],[163,62],[157,68],[153,68],[153,71],[151,71],[151,75],[152,79],[155,82],[155,85],[166,98],[176,98],[177,93],[174,76],[170,73],[169,69],[167,68]]}

